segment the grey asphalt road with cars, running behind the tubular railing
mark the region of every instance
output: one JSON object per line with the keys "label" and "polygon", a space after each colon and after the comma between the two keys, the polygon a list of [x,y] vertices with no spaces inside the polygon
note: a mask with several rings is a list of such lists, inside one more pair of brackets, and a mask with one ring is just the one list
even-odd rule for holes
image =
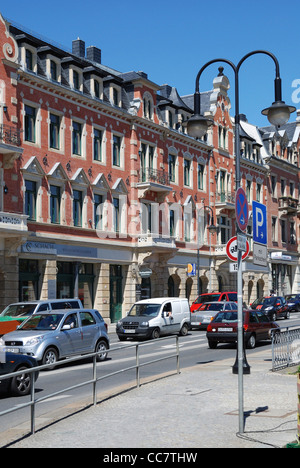
{"label": "grey asphalt road with cars, running behind the tubular railing", "polygon": [[[280,320],[278,324],[281,327],[300,326],[300,313],[293,313],[291,314],[290,320]],[[114,373],[126,367],[134,366],[136,362],[136,347],[129,347],[129,345],[136,345],[137,342],[127,341],[121,343],[115,333],[110,334],[110,339],[112,352],[109,354],[107,361],[97,365],[98,377]],[[176,351],[175,343],[175,337],[168,340],[158,339],[146,342],[145,345],[140,348],[140,363],[174,354]],[[197,366],[203,363],[215,362],[228,358],[232,358],[232,364],[234,364],[236,357],[236,348],[233,345],[223,344],[219,345],[215,350],[209,349],[205,331],[192,331],[188,336],[180,337],[179,347],[181,368]],[[266,359],[271,359],[271,346],[269,343],[258,343],[256,349],[247,350],[247,356],[251,360],[251,356],[261,351],[266,353]],[[141,368],[141,381],[143,382],[144,379],[153,375],[170,371],[175,372],[175,370],[175,358],[160,361]],[[136,371],[132,369],[104,379],[97,384],[98,395],[104,394],[108,397],[113,393],[113,389],[125,389],[126,386],[130,386],[130,384],[134,385],[135,378]],[[40,373],[36,383],[37,397],[50,395],[59,389],[68,388],[89,379],[92,379],[92,363],[90,359],[85,358],[76,363],[61,364],[55,370],[42,371]],[[25,401],[29,401],[29,397],[14,398],[5,394],[0,394],[0,411],[18,407]],[[37,405],[36,409],[37,421],[45,425],[51,422],[54,412],[55,418],[57,418],[65,414],[66,407],[68,407],[69,412],[74,412],[74,410],[80,409],[83,403],[92,403],[91,385],[68,391],[62,395],[41,402]],[[0,437],[2,437],[0,440],[5,439],[4,433],[8,430],[10,430],[11,433],[15,431],[15,433],[18,434],[19,431],[24,431],[24,428],[26,428],[26,430],[29,429],[29,415],[30,409],[27,408],[15,411],[10,415],[2,416],[0,424]]]}

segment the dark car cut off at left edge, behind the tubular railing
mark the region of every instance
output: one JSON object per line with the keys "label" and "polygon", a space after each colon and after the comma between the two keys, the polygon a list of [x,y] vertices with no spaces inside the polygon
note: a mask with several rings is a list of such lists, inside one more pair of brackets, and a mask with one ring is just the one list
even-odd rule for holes
{"label": "dark car cut off at left edge, behind the tubular railing", "polygon": [[[3,353],[4,354],[4,353]],[[37,380],[38,371],[32,373],[26,372],[28,369],[37,367],[37,361],[31,356],[24,356],[23,354],[5,353],[4,362],[0,361],[0,379],[1,376],[12,374],[13,372],[23,371],[21,375],[9,379],[0,380],[0,388],[15,396],[28,395],[31,390],[32,378]]]}

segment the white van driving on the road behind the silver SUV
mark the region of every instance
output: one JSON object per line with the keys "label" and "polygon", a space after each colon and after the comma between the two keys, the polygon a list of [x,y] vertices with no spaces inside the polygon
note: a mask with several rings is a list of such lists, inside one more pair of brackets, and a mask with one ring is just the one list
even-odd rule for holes
{"label": "white van driving on the road behind the silver SUV", "polygon": [[159,338],[161,335],[179,333],[187,335],[191,312],[187,299],[165,297],[136,302],[127,317],[116,327],[120,341],[127,338]]}

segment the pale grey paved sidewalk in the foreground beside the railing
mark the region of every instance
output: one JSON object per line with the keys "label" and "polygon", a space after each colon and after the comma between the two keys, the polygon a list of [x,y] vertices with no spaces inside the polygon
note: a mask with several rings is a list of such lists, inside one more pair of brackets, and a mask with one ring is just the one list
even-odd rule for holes
{"label": "pale grey paved sidewalk in the foreground beside the railing", "polygon": [[[232,361],[198,363],[103,401],[13,448],[270,448],[297,436],[297,378],[273,373],[263,351],[244,376],[245,433],[238,437],[238,376]],[[292,370],[289,370],[291,372]]]}

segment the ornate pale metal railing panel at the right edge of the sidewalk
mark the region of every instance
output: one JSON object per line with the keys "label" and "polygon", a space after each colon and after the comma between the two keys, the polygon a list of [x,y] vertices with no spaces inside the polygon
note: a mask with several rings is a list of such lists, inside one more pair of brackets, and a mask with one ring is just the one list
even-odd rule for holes
{"label": "ornate pale metal railing panel at the right edge of the sidewalk", "polygon": [[272,330],[272,370],[300,364],[300,328],[282,327]]}

